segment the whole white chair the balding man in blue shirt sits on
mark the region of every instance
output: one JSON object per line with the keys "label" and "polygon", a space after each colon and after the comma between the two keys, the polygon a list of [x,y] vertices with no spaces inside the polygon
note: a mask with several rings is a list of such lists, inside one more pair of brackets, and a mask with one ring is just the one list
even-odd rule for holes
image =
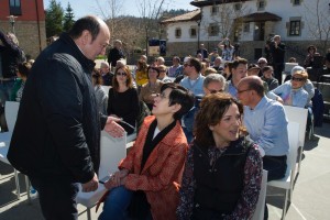
{"label": "whole white chair the balding man in blue shirt sits on", "polygon": [[287,155],[287,169],[283,179],[276,179],[267,183],[267,186],[285,189],[285,201],[282,212],[282,219],[285,219],[287,202],[292,201],[295,175],[296,175],[296,162],[299,147],[299,123],[288,122],[287,125],[289,136],[289,153]]}

